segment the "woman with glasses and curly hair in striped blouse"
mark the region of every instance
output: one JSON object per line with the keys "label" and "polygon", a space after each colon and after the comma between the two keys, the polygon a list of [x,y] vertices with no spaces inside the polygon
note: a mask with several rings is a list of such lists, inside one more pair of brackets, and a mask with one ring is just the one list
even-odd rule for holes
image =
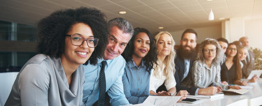
{"label": "woman with glasses and curly hair in striped blouse", "polygon": [[222,89],[241,89],[239,86],[221,84],[220,63],[224,58],[223,51],[217,40],[205,39],[200,44],[196,61],[192,65],[193,86],[198,88],[216,86],[217,93]]}

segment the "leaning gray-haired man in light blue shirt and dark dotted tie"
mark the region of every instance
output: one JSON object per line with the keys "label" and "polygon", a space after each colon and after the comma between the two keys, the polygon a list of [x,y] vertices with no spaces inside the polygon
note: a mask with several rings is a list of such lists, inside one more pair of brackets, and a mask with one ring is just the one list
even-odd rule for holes
{"label": "leaning gray-haired man in light blue shirt and dark dotted tie", "polygon": [[123,90],[122,76],[125,60],[120,54],[123,53],[134,30],[132,25],[123,18],[112,19],[107,24],[108,44],[103,58],[98,59],[96,66],[91,64],[84,66],[83,103],[87,106],[105,105],[106,92],[111,105],[130,105]]}

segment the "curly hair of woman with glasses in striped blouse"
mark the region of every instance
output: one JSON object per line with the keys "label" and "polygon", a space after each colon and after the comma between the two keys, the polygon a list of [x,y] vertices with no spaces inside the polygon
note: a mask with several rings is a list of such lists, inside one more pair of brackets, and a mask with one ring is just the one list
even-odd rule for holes
{"label": "curly hair of woman with glasses in striped blouse", "polygon": [[226,60],[226,56],[224,55],[221,46],[219,45],[219,43],[217,42],[216,39],[211,39],[211,38],[206,38],[199,47],[199,51],[198,51],[198,55],[196,57],[196,60],[201,61],[202,63],[205,62],[205,57],[204,57],[204,47],[208,44],[212,44],[216,46],[216,57],[214,58],[214,60],[212,61],[212,64],[214,65],[218,65],[220,63],[222,63],[223,61]]}

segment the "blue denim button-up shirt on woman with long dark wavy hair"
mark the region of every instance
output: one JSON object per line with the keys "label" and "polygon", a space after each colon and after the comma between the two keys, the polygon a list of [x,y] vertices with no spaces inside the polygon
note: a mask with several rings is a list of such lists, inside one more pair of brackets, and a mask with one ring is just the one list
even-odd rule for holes
{"label": "blue denim button-up shirt on woman with long dark wavy hair", "polygon": [[149,96],[150,73],[151,70],[149,72],[146,71],[143,60],[139,67],[137,67],[133,59],[125,64],[122,81],[124,94],[129,103],[143,103]]}

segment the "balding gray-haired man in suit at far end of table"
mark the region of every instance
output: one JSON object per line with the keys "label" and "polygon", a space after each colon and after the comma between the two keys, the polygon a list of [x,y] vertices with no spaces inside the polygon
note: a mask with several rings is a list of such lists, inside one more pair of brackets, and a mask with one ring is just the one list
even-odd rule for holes
{"label": "balding gray-haired man in suit at far end of table", "polygon": [[[243,46],[248,48],[249,39],[247,37],[240,38],[239,42],[241,42]],[[243,63],[242,74],[244,78],[247,78],[250,72],[255,69],[255,59],[254,58],[255,58],[255,54],[252,51],[248,51],[247,58],[241,61]]]}

